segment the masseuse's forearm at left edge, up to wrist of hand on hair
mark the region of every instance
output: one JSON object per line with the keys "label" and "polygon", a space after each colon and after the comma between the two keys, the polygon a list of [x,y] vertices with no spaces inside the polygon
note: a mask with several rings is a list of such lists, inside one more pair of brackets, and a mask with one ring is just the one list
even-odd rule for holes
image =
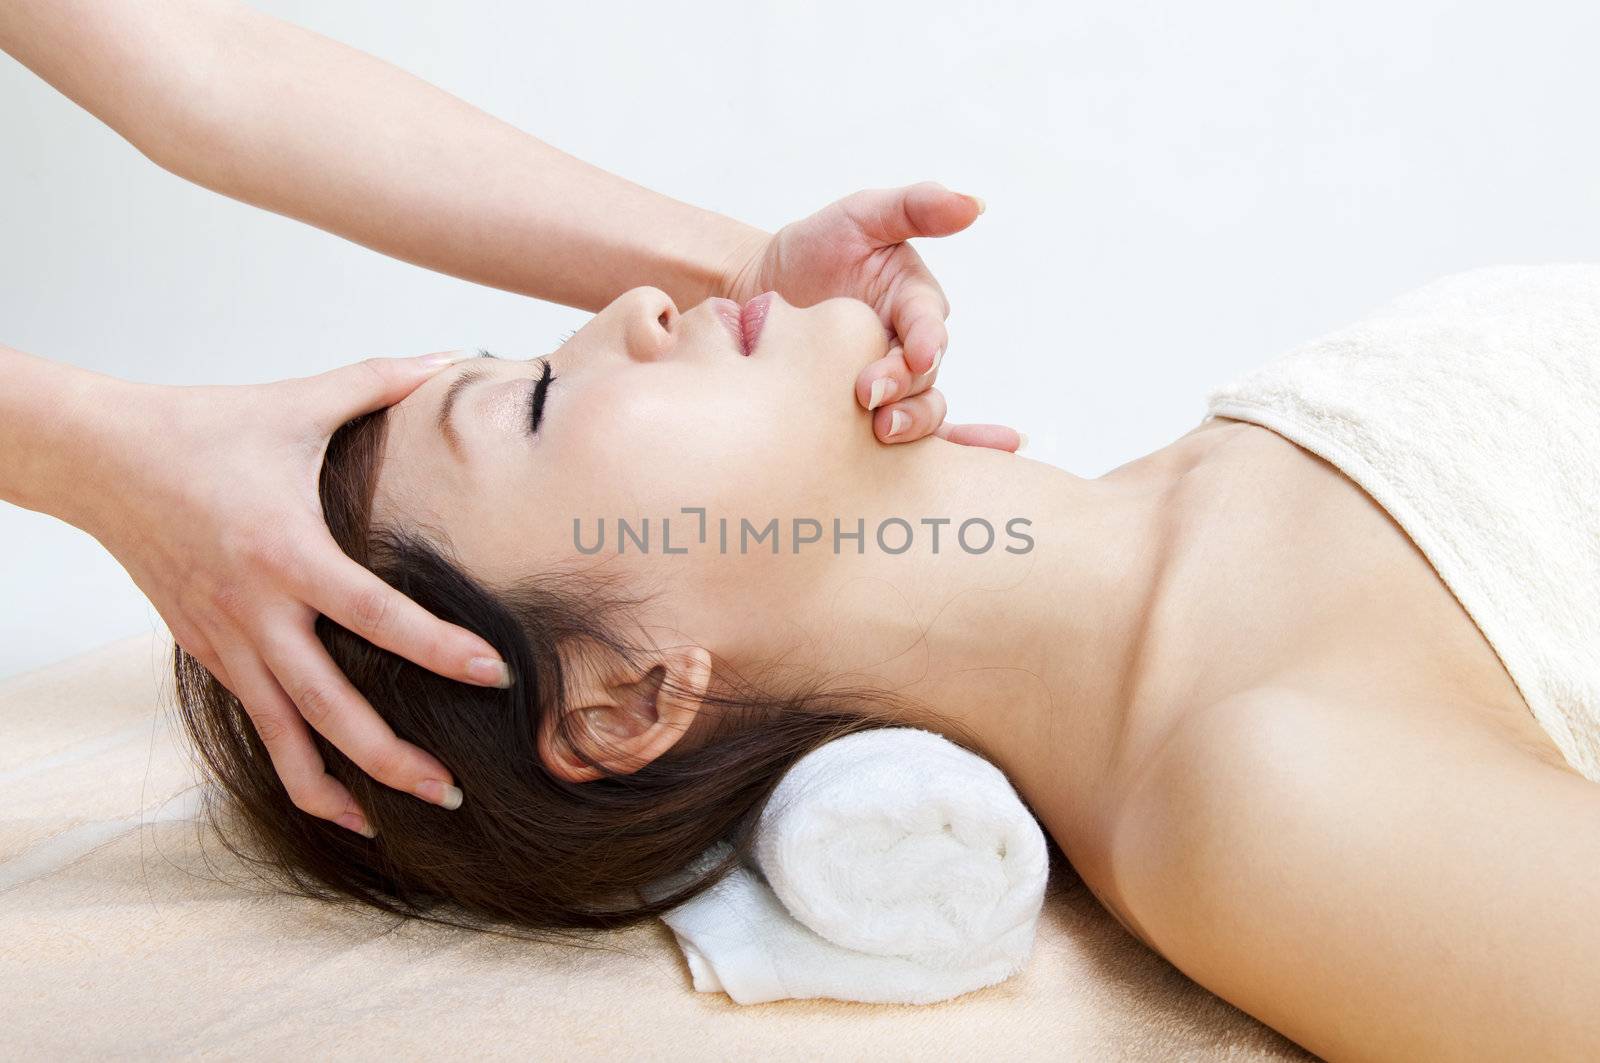
{"label": "masseuse's forearm at left edge, up to wrist of hand on hair", "polygon": [[99,426],[138,384],[0,347],[0,501],[94,532]]}

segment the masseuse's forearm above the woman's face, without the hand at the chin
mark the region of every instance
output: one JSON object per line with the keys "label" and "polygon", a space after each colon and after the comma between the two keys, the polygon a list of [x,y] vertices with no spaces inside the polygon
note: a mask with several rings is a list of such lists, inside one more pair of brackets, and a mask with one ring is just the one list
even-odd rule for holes
{"label": "masseuse's forearm above the woman's face, without the hand at the chin", "polygon": [[182,178],[568,306],[698,303],[763,237],[226,0],[6,0],[0,48]]}

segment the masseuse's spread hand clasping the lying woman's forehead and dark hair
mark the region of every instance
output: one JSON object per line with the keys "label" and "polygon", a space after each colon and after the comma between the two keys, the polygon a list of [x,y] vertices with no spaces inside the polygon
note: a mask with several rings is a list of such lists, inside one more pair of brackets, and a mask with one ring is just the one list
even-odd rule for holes
{"label": "masseuse's spread hand clasping the lying woman's forehead and dark hair", "polygon": [[[110,491],[88,530],[133,575],[178,644],[250,712],[306,812],[368,832],[323,770],[315,727],[379,781],[445,807],[445,765],[402,741],[328,656],[318,613],[442,676],[507,685],[483,639],[446,624],[350,560],[317,495],[328,437],[405,399],[454,355],[373,359],[245,387],[133,387],[104,410],[91,475]],[[102,403],[112,405],[112,403]]]}

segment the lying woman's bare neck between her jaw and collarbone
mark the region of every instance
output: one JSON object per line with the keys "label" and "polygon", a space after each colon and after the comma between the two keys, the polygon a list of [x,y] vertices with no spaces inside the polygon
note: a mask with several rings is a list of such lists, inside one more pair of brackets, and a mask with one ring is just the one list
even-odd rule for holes
{"label": "lying woman's bare neck between her jaw and collarbone", "polygon": [[[910,724],[965,730],[1069,845],[1149,679],[1168,499],[1206,448],[1190,439],[1096,480],[938,439],[893,448],[861,504],[864,552],[850,543],[790,599],[786,631],[806,648],[789,660],[901,695]],[[994,528],[989,549],[982,523],[962,536],[971,520]],[[907,527],[910,546],[886,552]]]}

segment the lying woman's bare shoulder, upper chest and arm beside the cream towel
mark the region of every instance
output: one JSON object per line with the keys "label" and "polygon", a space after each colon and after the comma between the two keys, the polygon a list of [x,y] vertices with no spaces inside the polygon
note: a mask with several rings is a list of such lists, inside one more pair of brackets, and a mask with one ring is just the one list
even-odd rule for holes
{"label": "lying woman's bare shoulder, upper chest and arm beside the cream towel", "polygon": [[1600,786],[1338,469],[1226,419],[1146,461],[1190,453],[1099,829],[1045,823],[1136,937],[1326,1058],[1592,1052]]}

